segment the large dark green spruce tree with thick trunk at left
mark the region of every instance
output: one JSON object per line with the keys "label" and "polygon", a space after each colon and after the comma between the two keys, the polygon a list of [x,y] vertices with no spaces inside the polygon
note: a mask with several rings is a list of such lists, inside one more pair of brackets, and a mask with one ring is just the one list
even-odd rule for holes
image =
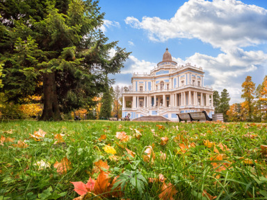
{"label": "large dark green spruce tree with thick trunk at left", "polygon": [[[8,100],[42,94],[41,120],[60,120],[60,111],[94,103],[106,75],[120,72],[129,56],[99,31],[104,14],[97,3],[0,1],[0,62]],[[114,57],[108,56],[111,48]]]}

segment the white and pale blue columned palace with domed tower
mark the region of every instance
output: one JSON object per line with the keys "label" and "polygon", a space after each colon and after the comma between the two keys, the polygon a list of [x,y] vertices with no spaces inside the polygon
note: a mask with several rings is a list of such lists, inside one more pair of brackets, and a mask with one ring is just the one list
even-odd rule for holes
{"label": "white and pale blue columned palace with domed tower", "polygon": [[149,74],[133,73],[131,91],[122,94],[122,117],[163,116],[177,121],[177,113],[214,113],[213,89],[204,87],[202,67],[178,66],[168,48]]}

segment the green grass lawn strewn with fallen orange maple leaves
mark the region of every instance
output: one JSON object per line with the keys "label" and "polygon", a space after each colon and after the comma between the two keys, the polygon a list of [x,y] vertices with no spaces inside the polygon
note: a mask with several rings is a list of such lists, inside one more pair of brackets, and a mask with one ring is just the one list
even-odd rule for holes
{"label": "green grass lawn strewn with fallen orange maple leaves", "polygon": [[266,125],[24,120],[0,137],[0,199],[267,199]]}

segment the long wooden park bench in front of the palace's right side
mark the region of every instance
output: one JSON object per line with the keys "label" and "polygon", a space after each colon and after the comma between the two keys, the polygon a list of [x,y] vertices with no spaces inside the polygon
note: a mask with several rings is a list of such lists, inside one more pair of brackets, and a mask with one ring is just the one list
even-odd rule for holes
{"label": "long wooden park bench in front of the palace's right side", "polygon": [[179,118],[179,122],[185,121],[187,122],[188,120],[192,121],[200,121],[200,120],[206,120],[206,121],[211,121],[212,118],[209,118],[208,114],[206,111],[197,111],[197,112],[192,112],[192,113],[178,113],[177,114]]}

